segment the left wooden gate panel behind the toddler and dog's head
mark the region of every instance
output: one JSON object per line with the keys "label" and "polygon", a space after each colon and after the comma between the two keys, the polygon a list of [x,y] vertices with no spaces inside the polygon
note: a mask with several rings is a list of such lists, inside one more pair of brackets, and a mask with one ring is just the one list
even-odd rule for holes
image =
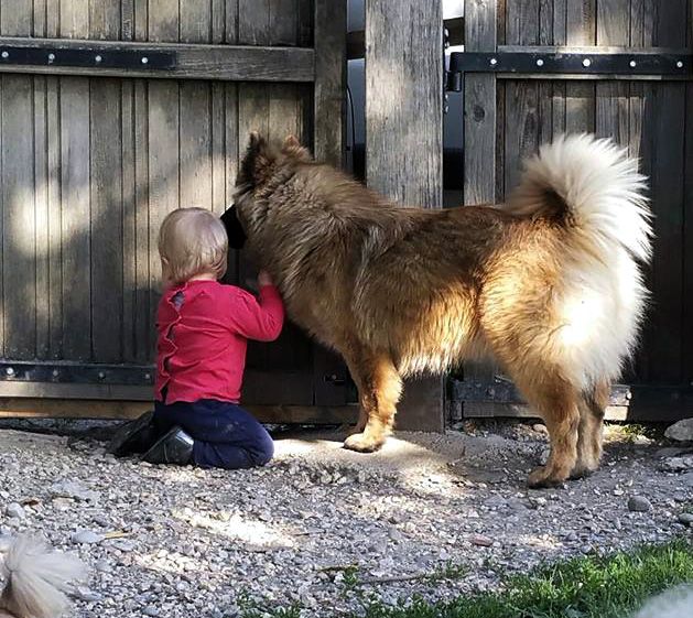
{"label": "left wooden gate panel behind the toddler and dog's head", "polygon": [[[0,2],[0,413],[148,405],[162,218],[223,212],[251,130],[339,164],[345,32],[345,0]],[[248,366],[266,421],[350,415],[292,326]]]}

